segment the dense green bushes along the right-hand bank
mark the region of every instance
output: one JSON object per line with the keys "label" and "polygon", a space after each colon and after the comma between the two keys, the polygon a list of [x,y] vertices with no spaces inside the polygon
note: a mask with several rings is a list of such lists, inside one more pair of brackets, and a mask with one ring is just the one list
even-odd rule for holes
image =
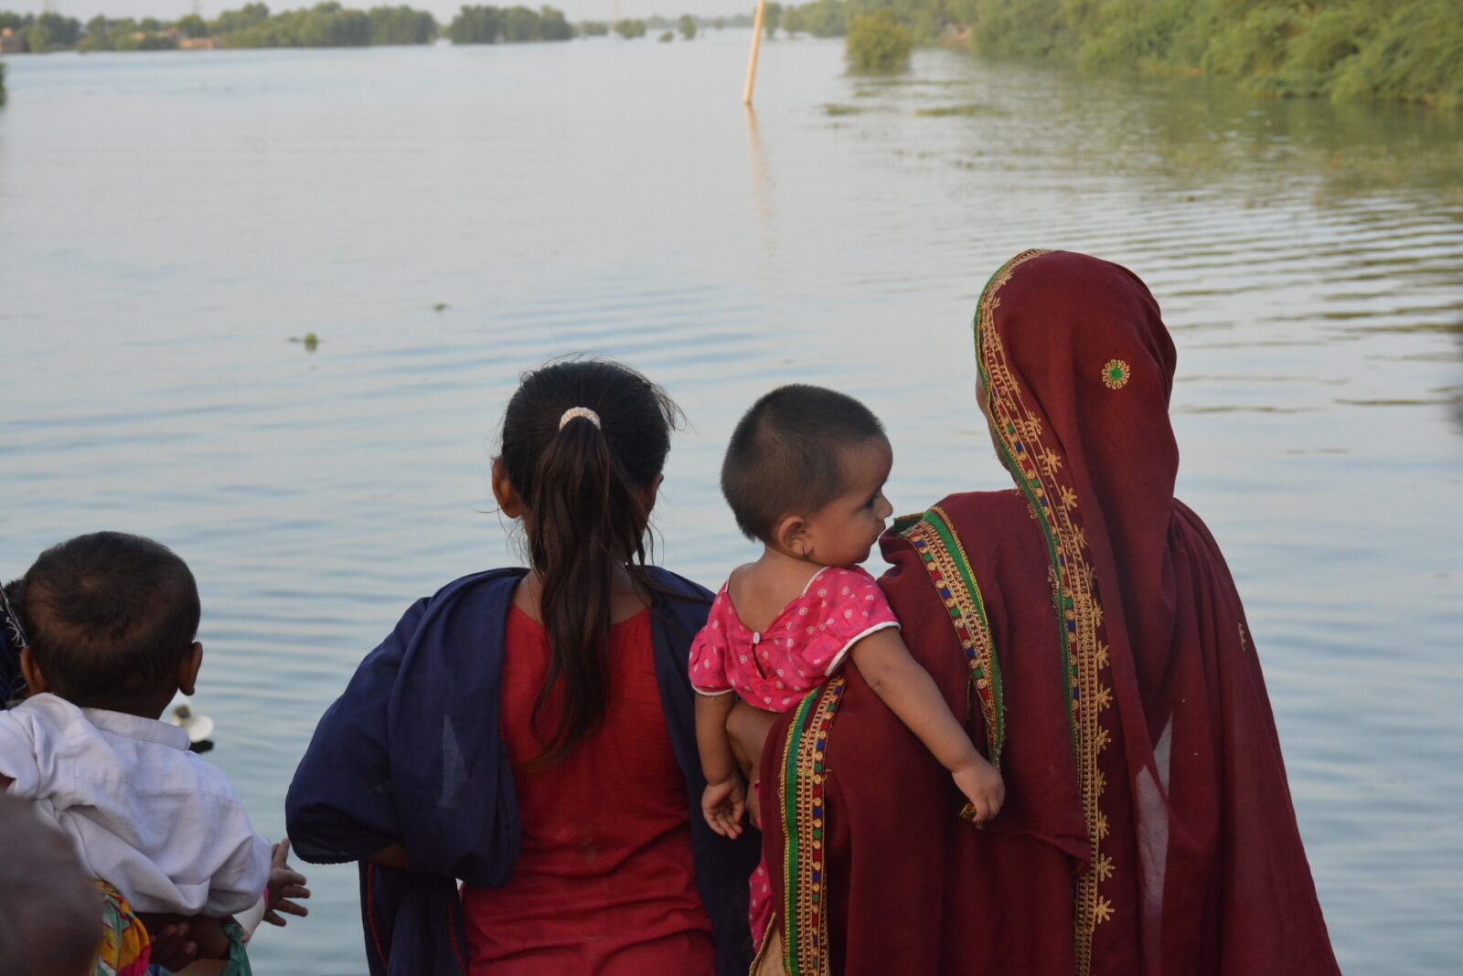
{"label": "dense green bushes along the right-hand bank", "polygon": [[[811,0],[780,9],[778,23],[840,37],[876,10],[917,44],[969,42],[990,57],[1213,75],[1283,98],[1463,107],[1459,0]],[[850,61],[860,57],[850,39]]]}

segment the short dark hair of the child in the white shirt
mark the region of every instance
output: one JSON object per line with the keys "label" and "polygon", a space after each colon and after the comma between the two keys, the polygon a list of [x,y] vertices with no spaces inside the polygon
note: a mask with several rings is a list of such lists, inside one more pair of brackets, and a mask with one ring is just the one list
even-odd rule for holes
{"label": "short dark hair of the child in the white shirt", "polygon": [[31,653],[51,691],[133,709],[173,679],[198,636],[198,584],[173,549],[123,532],[41,554],[22,589]]}

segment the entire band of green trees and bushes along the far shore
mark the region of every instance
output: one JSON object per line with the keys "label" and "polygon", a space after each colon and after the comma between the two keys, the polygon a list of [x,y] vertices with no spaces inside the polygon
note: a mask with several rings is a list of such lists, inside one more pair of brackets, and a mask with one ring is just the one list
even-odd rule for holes
{"label": "entire band of green trees and bushes along the far shore", "polygon": [[[1463,107],[1460,0],[809,0],[770,3],[768,34],[844,37],[856,70],[898,70],[913,44],[969,44],[990,57],[1045,57],[1083,70],[1211,75],[1279,98],[1404,101]],[[854,32],[860,18],[866,20]],[[745,26],[748,15],[711,23]],[[454,44],[566,41],[613,29],[695,37],[691,16],[571,25],[553,7],[464,6],[442,34]],[[189,15],[97,16],[0,12],[0,32],[25,51],[138,51],[199,47],[364,47],[432,44],[439,25],[408,6],[347,9],[335,0],[271,13],[263,3],[214,20]],[[887,35],[887,37],[885,37]]]}

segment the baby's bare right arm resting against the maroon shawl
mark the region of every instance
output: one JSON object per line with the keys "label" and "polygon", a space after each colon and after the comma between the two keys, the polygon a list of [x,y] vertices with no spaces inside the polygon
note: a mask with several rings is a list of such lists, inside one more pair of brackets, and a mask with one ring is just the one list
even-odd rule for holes
{"label": "baby's bare right arm resting against the maroon shawl", "polygon": [[949,770],[955,786],[974,807],[976,823],[995,817],[1005,801],[1001,773],[976,751],[935,679],[910,656],[898,631],[875,631],[854,644],[851,655],[873,694]]}

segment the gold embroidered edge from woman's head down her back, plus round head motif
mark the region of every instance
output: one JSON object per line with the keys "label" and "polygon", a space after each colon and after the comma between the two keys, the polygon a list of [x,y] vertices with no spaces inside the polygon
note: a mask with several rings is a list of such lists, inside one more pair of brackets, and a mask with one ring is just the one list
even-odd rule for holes
{"label": "gold embroidered edge from woman's head down her back, plus round head motif", "polygon": [[[1043,443],[1042,419],[1021,399],[1001,336],[995,330],[1002,285],[1020,264],[1043,253],[1017,254],[986,285],[976,311],[976,359],[1001,460],[1031,504],[1037,526],[1046,539],[1052,605],[1056,611],[1062,652],[1061,666],[1069,695],[1068,729],[1081,785],[1087,842],[1091,847],[1091,863],[1077,877],[1074,894],[1075,972],[1077,976],[1087,976],[1091,972],[1093,931],[1112,919],[1115,912],[1112,900],[1099,893],[1099,885],[1112,880],[1115,872],[1113,861],[1105,853],[1103,845],[1109,823],[1100,807],[1106,782],[1099,769],[1099,757],[1112,742],[1115,722],[1110,709],[1110,655],[1077,492],[1061,478],[1061,463],[1053,465],[1048,459],[1049,454],[1059,456],[1059,450],[1053,444]],[[1122,389],[1129,378],[1131,370],[1121,359],[1103,367],[1103,383],[1109,389]]]}

